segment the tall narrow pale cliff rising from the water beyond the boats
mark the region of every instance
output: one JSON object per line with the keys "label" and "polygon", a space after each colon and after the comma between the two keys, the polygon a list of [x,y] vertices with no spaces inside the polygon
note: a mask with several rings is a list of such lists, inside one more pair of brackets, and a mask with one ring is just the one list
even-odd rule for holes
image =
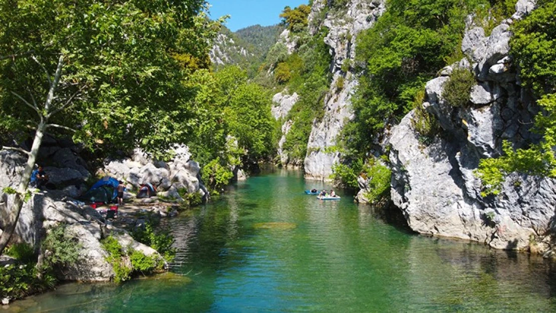
{"label": "tall narrow pale cliff rising from the water beyond the boats", "polygon": [[324,118],[314,123],[307,143],[305,177],[311,180],[329,180],[332,165],[340,160],[333,147],[345,123],[353,118],[350,103],[357,80],[350,64],[355,58],[356,37],[385,11],[383,0],[350,0],[344,9],[330,11],[322,25],[315,25],[315,19],[326,6],[326,0],[315,1],[309,21],[313,33],[318,27],[329,28],[325,42],[330,46],[333,74],[330,92],[325,97]]}

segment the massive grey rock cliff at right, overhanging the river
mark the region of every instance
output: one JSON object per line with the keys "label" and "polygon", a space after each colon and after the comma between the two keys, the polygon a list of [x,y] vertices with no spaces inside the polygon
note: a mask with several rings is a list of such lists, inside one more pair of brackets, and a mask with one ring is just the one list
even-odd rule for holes
{"label": "massive grey rock cliff at right, overhanging the river", "polygon": [[[419,141],[411,123],[414,112],[393,129],[391,196],[414,231],[481,241],[498,249],[549,251],[556,182],[512,175],[500,195],[484,197],[474,175],[481,158],[500,155],[503,140],[517,146],[538,140],[530,132],[538,108],[519,86],[509,54],[510,24],[533,8],[533,1],[518,1],[517,13],[488,37],[482,28],[469,29],[461,47],[468,58],[428,82],[423,106],[441,127],[433,143]],[[452,107],[443,98],[456,67],[472,68],[476,78],[466,107]]]}

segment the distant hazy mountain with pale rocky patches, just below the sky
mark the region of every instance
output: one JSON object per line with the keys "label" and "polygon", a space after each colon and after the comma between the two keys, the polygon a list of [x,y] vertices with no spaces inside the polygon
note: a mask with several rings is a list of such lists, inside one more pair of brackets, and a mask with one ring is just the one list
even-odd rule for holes
{"label": "distant hazy mountain with pale rocky patches, just below the sky", "polygon": [[254,74],[283,30],[279,25],[255,25],[234,33],[222,26],[210,52],[212,64],[216,70],[236,64]]}

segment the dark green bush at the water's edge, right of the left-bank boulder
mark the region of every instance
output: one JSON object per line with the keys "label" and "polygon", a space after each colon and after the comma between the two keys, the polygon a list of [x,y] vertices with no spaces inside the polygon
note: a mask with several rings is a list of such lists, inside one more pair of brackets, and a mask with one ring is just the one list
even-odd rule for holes
{"label": "dark green bush at the water's edge, right of the left-bank boulder", "polygon": [[158,227],[158,221],[149,218],[145,228],[137,228],[131,233],[133,239],[152,247],[161,254],[167,262],[171,262],[176,255],[176,249],[172,247],[175,242],[169,228]]}

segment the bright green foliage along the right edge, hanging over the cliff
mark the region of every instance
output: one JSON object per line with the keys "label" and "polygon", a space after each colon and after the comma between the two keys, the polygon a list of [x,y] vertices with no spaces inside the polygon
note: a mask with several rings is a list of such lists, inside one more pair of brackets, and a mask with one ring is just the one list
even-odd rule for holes
{"label": "bright green foliage along the right edge, hanging over the cliff", "polygon": [[528,17],[513,26],[511,52],[521,68],[523,86],[530,87],[540,97],[542,108],[535,117],[534,130],[543,140],[528,148],[514,150],[510,142],[503,143],[503,156],[481,160],[475,172],[483,181],[483,196],[498,195],[502,183],[512,172],[556,177],[556,3],[541,1]]}

